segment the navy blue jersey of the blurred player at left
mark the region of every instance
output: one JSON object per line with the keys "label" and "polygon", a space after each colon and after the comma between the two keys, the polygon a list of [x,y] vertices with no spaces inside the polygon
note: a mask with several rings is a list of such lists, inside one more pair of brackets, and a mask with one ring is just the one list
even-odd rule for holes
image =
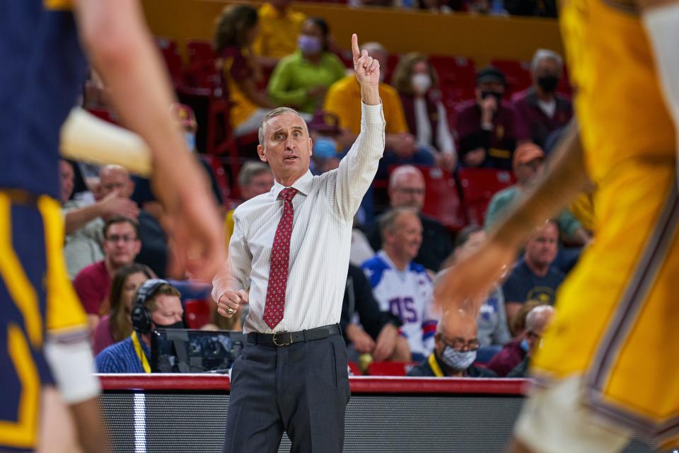
{"label": "navy blue jersey of the blurred player at left", "polygon": [[59,199],[59,128],[86,76],[70,1],[3,1],[0,188]]}

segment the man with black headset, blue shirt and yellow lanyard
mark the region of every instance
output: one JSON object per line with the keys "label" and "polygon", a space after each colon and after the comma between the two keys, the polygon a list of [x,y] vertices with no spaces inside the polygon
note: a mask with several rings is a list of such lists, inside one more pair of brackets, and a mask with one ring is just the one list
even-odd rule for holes
{"label": "man with black headset, blue shirt and yellow lanyard", "polygon": [[[150,373],[151,366],[151,331],[156,328],[184,328],[184,309],[180,300],[180,292],[164,280],[146,280],[137,290],[140,292],[151,285],[158,285],[151,294],[141,296],[141,305],[148,311],[151,325],[148,331],[134,326],[132,334],[118,343],[101,351],[95,361],[100,373]],[[135,302],[139,304],[140,301]],[[141,307],[139,307],[141,308]],[[137,309],[135,307],[135,309]]]}

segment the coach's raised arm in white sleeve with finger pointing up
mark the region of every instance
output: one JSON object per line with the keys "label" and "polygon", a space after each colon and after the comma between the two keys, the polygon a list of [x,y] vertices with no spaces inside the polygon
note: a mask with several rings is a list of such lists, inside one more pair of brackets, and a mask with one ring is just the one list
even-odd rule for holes
{"label": "coach's raised arm in white sleeve with finger pointing up", "polygon": [[[350,220],[358,210],[366,190],[377,172],[384,151],[384,116],[380,101],[380,63],[359,51],[356,35],[352,35],[354,72],[361,86],[361,133],[340,162],[335,177],[335,209],[340,217]],[[358,112],[356,112],[356,115]]]}

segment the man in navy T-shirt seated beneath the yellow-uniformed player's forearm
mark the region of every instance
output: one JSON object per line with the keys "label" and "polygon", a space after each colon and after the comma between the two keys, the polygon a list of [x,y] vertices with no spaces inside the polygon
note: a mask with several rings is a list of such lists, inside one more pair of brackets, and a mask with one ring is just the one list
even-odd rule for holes
{"label": "man in navy T-shirt seated beneath the yellow-uniformed player's forearm", "polygon": [[521,305],[530,299],[554,304],[557,289],[565,277],[552,265],[557,257],[558,243],[559,229],[553,220],[548,220],[530,235],[523,258],[502,286],[508,319],[513,319]]}

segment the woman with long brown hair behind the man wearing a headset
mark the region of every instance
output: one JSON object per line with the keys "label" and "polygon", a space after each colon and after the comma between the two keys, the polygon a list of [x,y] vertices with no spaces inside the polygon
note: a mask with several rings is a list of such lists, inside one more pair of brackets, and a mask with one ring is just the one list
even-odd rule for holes
{"label": "woman with long brown hair behind the man wearing a headset", "polygon": [[111,294],[108,303],[101,307],[101,321],[92,335],[94,355],[117,343],[132,333],[132,303],[134,293],[142,283],[155,278],[148,266],[134,263],[118,269],[111,283]]}

